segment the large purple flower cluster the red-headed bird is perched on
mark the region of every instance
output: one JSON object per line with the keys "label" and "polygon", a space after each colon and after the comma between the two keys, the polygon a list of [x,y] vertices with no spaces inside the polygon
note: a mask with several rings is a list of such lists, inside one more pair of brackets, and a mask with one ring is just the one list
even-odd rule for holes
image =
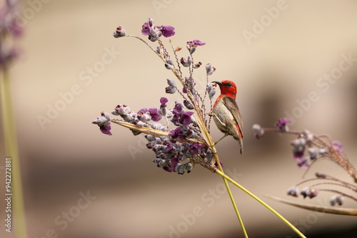
{"label": "large purple flower cluster the red-headed bird is perched on", "polygon": [[[144,36],[148,36],[150,41],[158,42],[159,46],[157,46],[156,50],[151,48],[143,39],[126,34],[126,31],[121,26],[116,28],[114,37],[129,36],[138,38],[146,43],[164,61],[165,68],[173,71],[177,81],[181,83],[182,89],[176,86],[174,80],[167,78],[168,86],[165,88],[165,92],[168,94],[179,93],[183,98],[182,103],[176,101],[173,109],[167,109],[169,100],[162,97],[159,108],[143,108],[135,113],[127,105],[119,104],[111,113],[113,115],[120,115],[123,122],[133,125],[134,127],[129,128],[133,131],[134,135],[143,132],[147,134],[145,136],[148,140],[146,147],[154,151],[155,159],[153,162],[158,167],[162,167],[168,172],[177,172],[181,175],[184,172],[190,172],[193,165],[197,163],[213,170],[216,168],[215,162],[212,162],[213,153],[208,148],[205,140],[203,140],[201,130],[193,114],[198,113],[201,118],[206,118],[204,100],[206,95],[208,95],[212,105],[212,98],[216,93],[216,88],[213,88],[212,84],[208,83],[208,76],[211,76],[216,71],[216,68],[211,66],[211,63],[206,64],[207,88],[204,96],[201,96],[195,88],[196,82],[193,79],[193,69],[199,68],[202,63],[194,63],[192,54],[198,46],[204,46],[206,43],[199,40],[187,41],[186,48],[189,55],[181,57],[181,59],[178,59],[177,51],[180,51],[182,47],[173,48],[176,63],[181,64],[184,68],[188,68],[189,75],[183,77],[180,65],[176,65],[175,61],[170,58],[164,43],[161,41],[161,36],[174,36],[174,29],[173,26],[155,26],[153,19],[149,19],[149,21],[143,24],[141,33]],[[166,119],[166,126],[158,123],[163,118]],[[99,125],[102,133],[111,135],[111,122],[118,121],[120,120],[111,119],[109,113],[103,112],[93,123]],[[169,130],[170,122],[175,126],[171,130]],[[206,124],[207,120],[205,119],[203,123]],[[140,128],[148,128],[148,130],[141,130]],[[164,133],[158,133],[158,131]]]}

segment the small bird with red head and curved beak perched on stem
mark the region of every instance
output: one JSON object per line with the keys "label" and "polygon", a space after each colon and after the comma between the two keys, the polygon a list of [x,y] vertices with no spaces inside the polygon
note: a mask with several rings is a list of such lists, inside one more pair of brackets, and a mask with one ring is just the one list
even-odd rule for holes
{"label": "small bird with red head and curved beak perched on stem", "polygon": [[[233,136],[234,140],[238,140],[242,153],[243,123],[241,113],[239,113],[239,108],[236,103],[236,84],[232,81],[213,81],[212,83],[217,83],[221,89],[221,95],[218,96],[212,108],[214,123],[216,123],[217,128],[225,134],[223,138],[225,138],[227,135],[231,135]],[[216,143],[218,143],[220,140],[218,140]]]}

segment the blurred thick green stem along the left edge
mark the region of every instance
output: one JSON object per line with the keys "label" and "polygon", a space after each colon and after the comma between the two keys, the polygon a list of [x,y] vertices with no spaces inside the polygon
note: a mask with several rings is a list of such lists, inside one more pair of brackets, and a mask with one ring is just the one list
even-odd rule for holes
{"label": "blurred thick green stem along the left edge", "polygon": [[[16,229],[16,237],[26,238],[26,220],[21,185],[21,168],[17,148],[14,115],[11,107],[11,90],[7,68],[0,75],[1,115],[3,120],[6,157],[11,158],[11,228]],[[5,170],[6,171],[6,170]],[[8,192],[6,192],[8,193]]]}

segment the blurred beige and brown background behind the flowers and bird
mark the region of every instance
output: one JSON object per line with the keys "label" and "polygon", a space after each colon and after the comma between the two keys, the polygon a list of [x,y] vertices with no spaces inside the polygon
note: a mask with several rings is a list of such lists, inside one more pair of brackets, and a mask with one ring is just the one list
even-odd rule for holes
{"label": "blurred beige and brown background behind the flowers and bird", "polygon": [[[217,145],[226,172],[307,237],[352,237],[356,217],[264,197],[328,205],[332,194],[286,197],[305,172],[291,155],[293,136],[256,140],[251,126],[273,127],[278,118],[291,118],[294,130],[340,140],[357,165],[356,11],[356,1],[348,0],[24,1],[19,14],[25,33],[21,57],[11,67],[11,87],[28,237],[243,237],[220,177],[200,166],[185,175],[165,172],[152,162],[144,135],[112,125],[108,136],[91,124],[119,103],[137,111],[159,107],[162,96],[170,108],[181,100],[165,95],[166,78],[174,75],[144,43],[112,36],[120,25],[146,39],[141,26],[149,17],[158,26],[175,27],[171,39],[183,46],[180,57],[188,55],[186,41],[205,42],[194,61],[216,68],[212,81],[230,80],[238,87],[245,150],[240,155],[233,138]],[[205,74],[204,68],[196,70],[196,81],[204,82]],[[214,125],[211,134],[221,138]],[[4,160],[1,166],[4,175]],[[316,171],[352,182],[328,160],[306,178]],[[3,191],[4,182],[0,187]],[[265,207],[232,189],[249,237],[297,237]],[[0,204],[4,207],[4,199]],[[343,207],[356,202],[345,200]],[[4,217],[1,208],[0,220]],[[15,237],[3,228],[0,234]]]}

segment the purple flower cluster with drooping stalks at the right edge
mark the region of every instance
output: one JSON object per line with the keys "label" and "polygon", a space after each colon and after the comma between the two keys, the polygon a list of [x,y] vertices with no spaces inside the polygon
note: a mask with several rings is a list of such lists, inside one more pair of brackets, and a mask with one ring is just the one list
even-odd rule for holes
{"label": "purple flower cluster with drooping stalks at the right edge", "polygon": [[[351,175],[353,180],[357,182],[356,169],[348,160],[348,157],[343,153],[343,146],[338,140],[333,141],[326,135],[314,135],[308,130],[291,131],[287,125],[290,122],[291,120],[287,118],[281,118],[278,120],[278,123],[276,123],[275,128],[262,128],[261,125],[255,124],[253,125],[254,136],[259,139],[264,135],[264,133],[267,132],[288,133],[296,135],[297,138],[291,141],[291,146],[293,158],[296,160],[298,167],[309,168],[311,165],[313,165],[314,162],[316,162],[316,160],[321,158],[328,158],[329,160],[336,162],[337,165],[340,165],[344,170],[346,170],[346,172],[348,172],[349,175]],[[298,185],[315,180],[328,180],[328,182],[318,182],[311,186],[304,187],[299,193]],[[338,194],[331,197],[331,205],[342,205],[343,197],[349,197],[357,201],[357,197],[354,195],[347,194],[339,190],[319,188],[321,185],[333,185],[344,187],[353,192],[357,192],[356,185],[353,185],[349,182],[344,182],[330,175],[321,174],[319,172],[316,172],[316,178],[304,180],[303,182],[298,183],[298,185],[290,187],[287,191],[287,194],[293,197],[298,197],[300,194],[303,196],[303,198],[313,198],[316,197],[321,191],[328,191]]]}

